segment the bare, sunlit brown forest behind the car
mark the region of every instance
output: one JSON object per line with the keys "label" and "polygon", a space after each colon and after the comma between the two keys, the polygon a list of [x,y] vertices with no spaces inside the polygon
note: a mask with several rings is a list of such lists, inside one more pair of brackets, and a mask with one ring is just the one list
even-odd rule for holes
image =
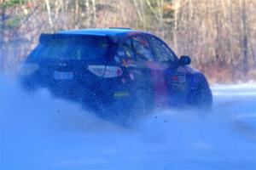
{"label": "bare, sunlit brown forest behind the car", "polygon": [[42,32],[106,27],[162,37],[211,82],[256,80],[256,0],[0,0],[0,70]]}

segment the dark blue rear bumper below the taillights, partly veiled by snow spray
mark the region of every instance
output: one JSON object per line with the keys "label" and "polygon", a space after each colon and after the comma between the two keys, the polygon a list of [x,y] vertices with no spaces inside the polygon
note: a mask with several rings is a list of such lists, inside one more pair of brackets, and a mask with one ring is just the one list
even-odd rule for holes
{"label": "dark blue rear bumper below the taillights, partly veiled by snow spray", "polygon": [[117,99],[129,99],[131,93],[118,83],[111,81],[44,81],[38,77],[19,77],[20,85],[26,91],[47,88],[57,98],[69,99],[86,105],[97,102],[111,105]]}

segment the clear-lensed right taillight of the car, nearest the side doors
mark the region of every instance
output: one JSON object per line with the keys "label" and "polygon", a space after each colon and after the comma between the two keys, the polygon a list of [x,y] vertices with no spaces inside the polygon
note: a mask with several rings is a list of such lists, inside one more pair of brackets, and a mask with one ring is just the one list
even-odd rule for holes
{"label": "clear-lensed right taillight of the car, nearest the side doors", "polygon": [[112,65],[89,65],[88,70],[96,76],[104,78],[119,77],[123,74],[119,66]]}

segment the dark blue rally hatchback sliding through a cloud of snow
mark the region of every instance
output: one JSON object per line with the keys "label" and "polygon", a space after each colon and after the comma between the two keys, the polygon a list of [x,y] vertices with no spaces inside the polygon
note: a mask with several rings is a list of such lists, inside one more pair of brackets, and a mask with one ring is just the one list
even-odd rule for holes
{"label": "dark blue rally hatchback sliding through a cloud of snow", "polygon": [[26,89],[49,88],[102,113],[209,108],[207,79],[189,64],[189,56],[178,58],[166,42],[145,31],[58,31],[41,35],[20,69],[20,81]]}

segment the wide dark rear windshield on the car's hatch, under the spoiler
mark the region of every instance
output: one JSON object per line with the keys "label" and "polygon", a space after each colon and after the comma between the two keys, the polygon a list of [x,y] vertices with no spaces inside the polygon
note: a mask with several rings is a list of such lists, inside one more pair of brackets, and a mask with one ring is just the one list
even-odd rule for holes
{"label": "wide dark rear windshield on the car's hatch, under the spoiler", "polygon": [[41,42],[33,51],[33,59],[102,59],[108,51],[107,37],[55,37]]}

